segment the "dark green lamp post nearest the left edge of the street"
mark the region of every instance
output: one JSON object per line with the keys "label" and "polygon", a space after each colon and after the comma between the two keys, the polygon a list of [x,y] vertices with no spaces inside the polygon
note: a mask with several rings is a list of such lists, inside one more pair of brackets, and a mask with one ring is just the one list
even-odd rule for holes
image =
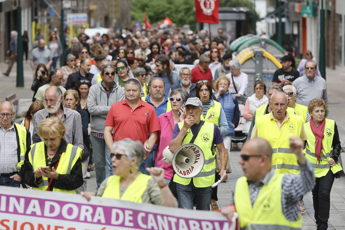
{"label": "dark green lamp post nearest the left edge of the street", "polygon": [[24,87],[23,76],[23,42],[21,35],[21,7],[20,0],[18,0],[17,8],[17,87]]}

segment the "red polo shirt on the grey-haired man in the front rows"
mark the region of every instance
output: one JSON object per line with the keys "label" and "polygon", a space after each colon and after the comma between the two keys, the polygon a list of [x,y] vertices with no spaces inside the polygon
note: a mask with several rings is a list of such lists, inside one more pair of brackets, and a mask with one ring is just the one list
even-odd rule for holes
{"label": "red polo shirt on the grey-haired man in the front rows", "polygon": [[112,104],[105,125],[114,127],[113,141],[129,137],[143,144],[148,133],[160,130],[155,109],[143,100],[134,110],[126,99]]}

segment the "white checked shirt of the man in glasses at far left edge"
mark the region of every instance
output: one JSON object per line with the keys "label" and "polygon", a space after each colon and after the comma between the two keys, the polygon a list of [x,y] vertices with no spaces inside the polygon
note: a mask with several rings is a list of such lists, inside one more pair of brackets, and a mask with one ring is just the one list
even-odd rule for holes
{"label": "white checked shirt of the man in glasses at far left edge", "polygon": [[14,123],[5,131],[0,125],[0,173],[17,171],[18,164],[17,133]]}

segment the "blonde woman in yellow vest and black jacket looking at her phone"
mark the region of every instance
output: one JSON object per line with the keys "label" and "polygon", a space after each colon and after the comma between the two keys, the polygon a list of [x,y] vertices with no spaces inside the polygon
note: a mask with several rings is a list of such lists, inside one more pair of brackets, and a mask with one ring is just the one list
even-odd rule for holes
{"label": "blonde woman in yellow vest and black jacket looking at her phone", "polygon": [[42,120],[37,133],[43,141],[31,145],[24,161],[24,182],[32,189],[76,193],[83,184],[81,148],[63,139],[66,126],[57,117]]}

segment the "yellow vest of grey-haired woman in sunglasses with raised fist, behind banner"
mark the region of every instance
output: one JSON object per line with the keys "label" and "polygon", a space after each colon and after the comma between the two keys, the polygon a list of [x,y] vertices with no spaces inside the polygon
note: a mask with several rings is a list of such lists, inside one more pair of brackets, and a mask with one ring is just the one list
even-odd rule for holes
{"label": "yellow vest of grey-haired woman in sunglasses with raised fist, behind banner", "polygon": [[137,178],[135,178],[135,180],[128,186],[120,198],[120,177],[117,175],[110,176],[107,179],[107,187],[105,188],[102,197],[142,203],[141,197],[147,188],[147,183],[150,178],[152,177],[139,172]]}

